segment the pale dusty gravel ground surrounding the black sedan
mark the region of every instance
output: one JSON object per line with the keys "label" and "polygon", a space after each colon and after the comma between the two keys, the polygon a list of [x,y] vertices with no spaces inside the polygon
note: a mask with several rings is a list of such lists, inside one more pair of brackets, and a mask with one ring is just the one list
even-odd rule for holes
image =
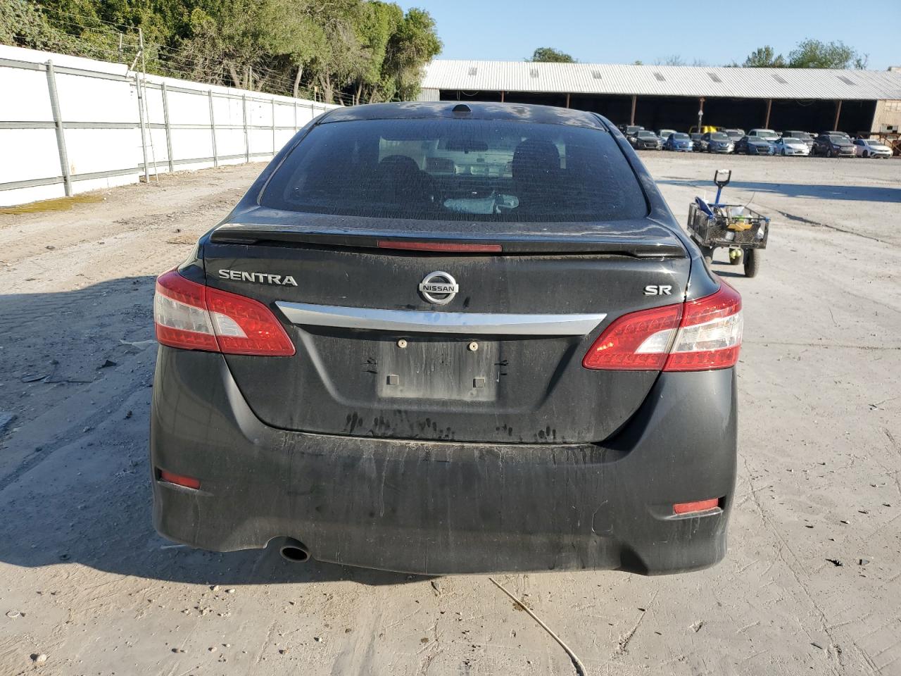
{"label": "pale dusty gravel ground surrounding the black sedan", "polygon": [[[680,222],[721,166],[731,199],[773,218],[757,279],[714,262],[746,322],[729,554],[664,578],[497,582],[593,675],[901,674],[901,162],[642,159]],[[153,276],[260,169],[0,215],[0,673],[576,673],[487,577],[297,566],[153,532]]]}

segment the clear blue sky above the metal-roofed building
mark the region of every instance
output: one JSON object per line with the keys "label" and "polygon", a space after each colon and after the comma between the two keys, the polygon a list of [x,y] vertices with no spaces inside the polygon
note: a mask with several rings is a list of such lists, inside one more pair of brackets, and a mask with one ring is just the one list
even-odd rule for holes
{"label": "clear blue sky above the metal-roofed building", "polygon": [[[401,0],[398,5],[432,14],[444,59],[519,60],[536,47],[556,47],[583,62],[651,64],[678,54],[687,63],[699,59],[722,66],[742,62],[764,44],[787,55],[798,41],[815,38],[841,40],[869,53],[869,69],[901,66],[901,0]],[[703,37],[705,27],[710,34]]]}

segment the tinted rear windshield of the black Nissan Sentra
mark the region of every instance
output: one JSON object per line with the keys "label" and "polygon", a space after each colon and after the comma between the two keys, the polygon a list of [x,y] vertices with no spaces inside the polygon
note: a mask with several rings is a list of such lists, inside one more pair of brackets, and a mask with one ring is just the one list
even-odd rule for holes
{"label": "tinted rear windshield of the black Nissan Sentra", "polygon": [[470,222],[609,221],[648,213],[610,133],[494,120],[319,124],[277,169],[259,203]]}

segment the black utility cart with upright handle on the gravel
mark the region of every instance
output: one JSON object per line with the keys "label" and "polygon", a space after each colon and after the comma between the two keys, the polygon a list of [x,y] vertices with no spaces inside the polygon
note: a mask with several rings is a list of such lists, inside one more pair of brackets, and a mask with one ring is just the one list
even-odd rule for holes
{"label": "black utility cart with upright handle on the gravel", "polygon": [[716,199],[708,204],[701,197],[688,206],[688,232],[701,248],[707,265],[714,260],[714,250],[729,250],[729,262],[744,264],[744,276],[755,277],[760,269],[760,254],[767,248],[769,218],[742,205],[720,202],[723,188],[732,179],[732,169],[714,173]]}

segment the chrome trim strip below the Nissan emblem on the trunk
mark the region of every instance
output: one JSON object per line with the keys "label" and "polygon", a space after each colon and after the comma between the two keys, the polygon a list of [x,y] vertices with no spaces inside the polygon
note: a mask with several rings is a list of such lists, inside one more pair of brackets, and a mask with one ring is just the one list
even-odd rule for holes
{"label": "chrome trim strip below the Nissan emblem on the trunk", "polygon": [[276,303],[292,324],[335,326],[397,333],[465,333],[467,335],[587,335],[604,321],[594,315],[502,315],[477,312],[419,312],[369,307]]}

